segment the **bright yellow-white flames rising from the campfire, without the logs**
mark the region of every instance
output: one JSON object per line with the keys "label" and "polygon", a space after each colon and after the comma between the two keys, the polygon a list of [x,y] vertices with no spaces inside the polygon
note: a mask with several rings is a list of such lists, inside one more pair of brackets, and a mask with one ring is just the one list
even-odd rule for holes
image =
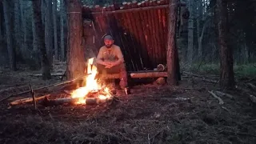
{"label": "bright yellow-white flames rising from the campfire, without the logs", "polygon": [[72,91],[71,93],[72,98],[79,98],[77,104],[86,104],[88,94],[94,92],[97,94],[99,90],[103,91],[101,94],[97,94],[97,98],[100,101],[104,101],[111,97],[109,89],[107,87],[103,88],[103,86],[98,83],[97,79],[95,79],[97,67],[93,65],[93,62],[94,58],[90,58],[88,60],[87,74],[89,75],[86,77],[86,85]]}

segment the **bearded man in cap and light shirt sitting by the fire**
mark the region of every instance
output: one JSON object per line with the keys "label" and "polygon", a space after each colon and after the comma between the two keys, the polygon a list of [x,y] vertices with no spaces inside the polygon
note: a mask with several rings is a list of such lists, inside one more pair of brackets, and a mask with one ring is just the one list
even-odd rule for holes
{"label": "bearded man in cap and light shirt sitting by the fire", "polygon": [[[114,45],[114,39],[110,35],[104,37],[105,46],[102,46],[96,59],[97,69],[102,74],[120,74],[120,87],[127,86],[127,72],[119,46]],[[103,75],[104,76],[104,75]]]}

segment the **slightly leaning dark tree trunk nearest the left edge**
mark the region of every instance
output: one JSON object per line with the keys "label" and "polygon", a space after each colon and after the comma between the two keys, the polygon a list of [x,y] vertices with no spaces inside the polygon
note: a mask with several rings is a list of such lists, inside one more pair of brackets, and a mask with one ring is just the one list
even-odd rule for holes
{"label": "slightly leaning dark tree trunk nearest the left edge", "polygon": [[4,18],[6,24],[6,42],[7,42],[7,49],[8,49],[8,56],[10,62],[10,70],[17,70],[16,68],[16,59],[15,59],[15,49],[14,49],[14,41],[12,38],[12,31],[11,31],[11,22],[10,22],[10,1],[4,0],[3,3],[3,11],[4,11]]}

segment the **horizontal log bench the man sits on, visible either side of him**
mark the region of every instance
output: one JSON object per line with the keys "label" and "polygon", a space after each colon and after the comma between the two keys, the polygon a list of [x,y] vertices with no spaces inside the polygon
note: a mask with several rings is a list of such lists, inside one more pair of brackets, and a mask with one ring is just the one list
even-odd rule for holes
{"label": "horizontal log bench the man sits on, visible either side of him", "polygon": [[[128,72],[130,78],[159,78],[167,77],[167,72]],[[119,74],[106,74],[103,79],[117,79],[120,78]]]}

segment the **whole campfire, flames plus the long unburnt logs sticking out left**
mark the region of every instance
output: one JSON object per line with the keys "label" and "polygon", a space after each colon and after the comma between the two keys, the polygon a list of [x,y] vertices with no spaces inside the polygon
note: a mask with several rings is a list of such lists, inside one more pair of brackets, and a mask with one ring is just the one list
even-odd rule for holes
{"label": "whole campfire, flames plus the long unburnt logs sticking out left", "polygon": [[[26,102],[34,102],[34,106],[36,108],[36,102],[39,100],[42,100],[42,102],[40,103],[45,106],[62,105],[64,103],[72,103],[75,105],[94,105],[111,102],[111,100],[114,98],[114,95],[111,94],[110,89],[106,86],[105,83],[102,84],[102,82],[100,82],[98,78],[96,78],[98,70],[97,67],[94,66],[94,58],[90,58],[88,60],[86,73],[86,77],[83,77],[83,86],[77,88],[76,90],[72,90],[71,92],[65,90],[66,93],[70,95],[66,98],[49,98],[51,94],[46,94],[42,97],[35,97],[34,90],[30,86],[30,90],[26,92],[30,92],[32,98],[18,99],[14,102],[10,102],[10,105],[14,106]],[[64,83],[66,82],[61,82],[52,86],[58,86]],[[40,89],[42,88],[38,88],[38,90]]]}

